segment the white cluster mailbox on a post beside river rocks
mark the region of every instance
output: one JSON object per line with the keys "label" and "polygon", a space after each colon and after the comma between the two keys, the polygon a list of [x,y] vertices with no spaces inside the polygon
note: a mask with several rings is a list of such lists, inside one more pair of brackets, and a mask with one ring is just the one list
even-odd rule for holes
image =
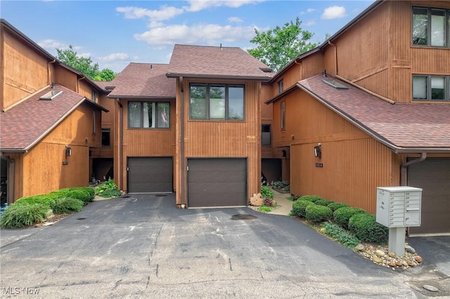
{"label": "white cluster mailbox on a post beside river rocks", "polygon": [[378,187],[376,221],[389,228],[389,251],[405,255],[405,227],[420,226],[422,189]]}

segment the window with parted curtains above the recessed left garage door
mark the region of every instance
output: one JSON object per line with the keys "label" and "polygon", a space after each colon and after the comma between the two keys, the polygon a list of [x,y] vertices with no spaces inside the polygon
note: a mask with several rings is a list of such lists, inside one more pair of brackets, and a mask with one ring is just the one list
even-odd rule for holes
{"label": "window with parted curtains above the recessed left garage door", "polygon": [[170,128],[170,103],[128,102],[128,128]]}

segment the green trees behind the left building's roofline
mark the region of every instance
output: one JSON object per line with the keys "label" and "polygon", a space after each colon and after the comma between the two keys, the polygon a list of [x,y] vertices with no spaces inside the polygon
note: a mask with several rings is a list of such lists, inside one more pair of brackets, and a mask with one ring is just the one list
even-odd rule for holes
{"label": "green trees behind the left building's roofline", "polygon": [[79,57],[77,52],[70,45],[67,50],[60,48],[56,49],[58,53],[58,60],[64,62],[66,65],[82,72],[86,77],[95,81],[111,81],[116,74],[111,69],[102,69],[98,67],[98,63],[94,63],[91,58]]}

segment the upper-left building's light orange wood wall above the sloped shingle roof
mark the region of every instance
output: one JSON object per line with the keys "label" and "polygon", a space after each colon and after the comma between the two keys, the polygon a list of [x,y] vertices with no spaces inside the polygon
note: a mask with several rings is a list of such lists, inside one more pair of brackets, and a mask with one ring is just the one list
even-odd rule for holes
{"label": "upper-left building's light orange wood wall above the sloped shingle roof", "polygon": [[[0,108],[5,109],[49,85],[48,60],[1,27]],[[25,72],[24,70],[32,70]]]}

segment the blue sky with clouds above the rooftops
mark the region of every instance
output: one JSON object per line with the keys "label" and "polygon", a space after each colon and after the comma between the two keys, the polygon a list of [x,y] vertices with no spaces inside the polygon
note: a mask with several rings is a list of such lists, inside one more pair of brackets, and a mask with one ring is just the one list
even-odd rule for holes
{"label": "blue sky with clouds above the rooftops", "polygon": [[321,43],[373,4],[360,1],[0,1],[0,17],[56,56],[72,45],[101,69],[168,63],[174,44],[238,46],[299,17]]}

